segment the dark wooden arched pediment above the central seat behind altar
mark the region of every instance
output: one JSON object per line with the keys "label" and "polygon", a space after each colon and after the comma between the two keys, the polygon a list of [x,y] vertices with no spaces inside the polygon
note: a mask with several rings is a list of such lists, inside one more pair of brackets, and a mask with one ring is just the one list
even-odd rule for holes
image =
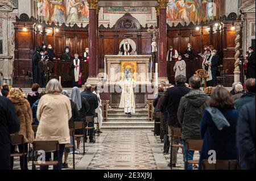
{"label": "dark wooden arched pediment above the central seat behind altar", "polygon": [[114,25],[115,30],[141,30],[141,24],[138,20],[131,16],[130,13],[126,13],[117,20]]}

